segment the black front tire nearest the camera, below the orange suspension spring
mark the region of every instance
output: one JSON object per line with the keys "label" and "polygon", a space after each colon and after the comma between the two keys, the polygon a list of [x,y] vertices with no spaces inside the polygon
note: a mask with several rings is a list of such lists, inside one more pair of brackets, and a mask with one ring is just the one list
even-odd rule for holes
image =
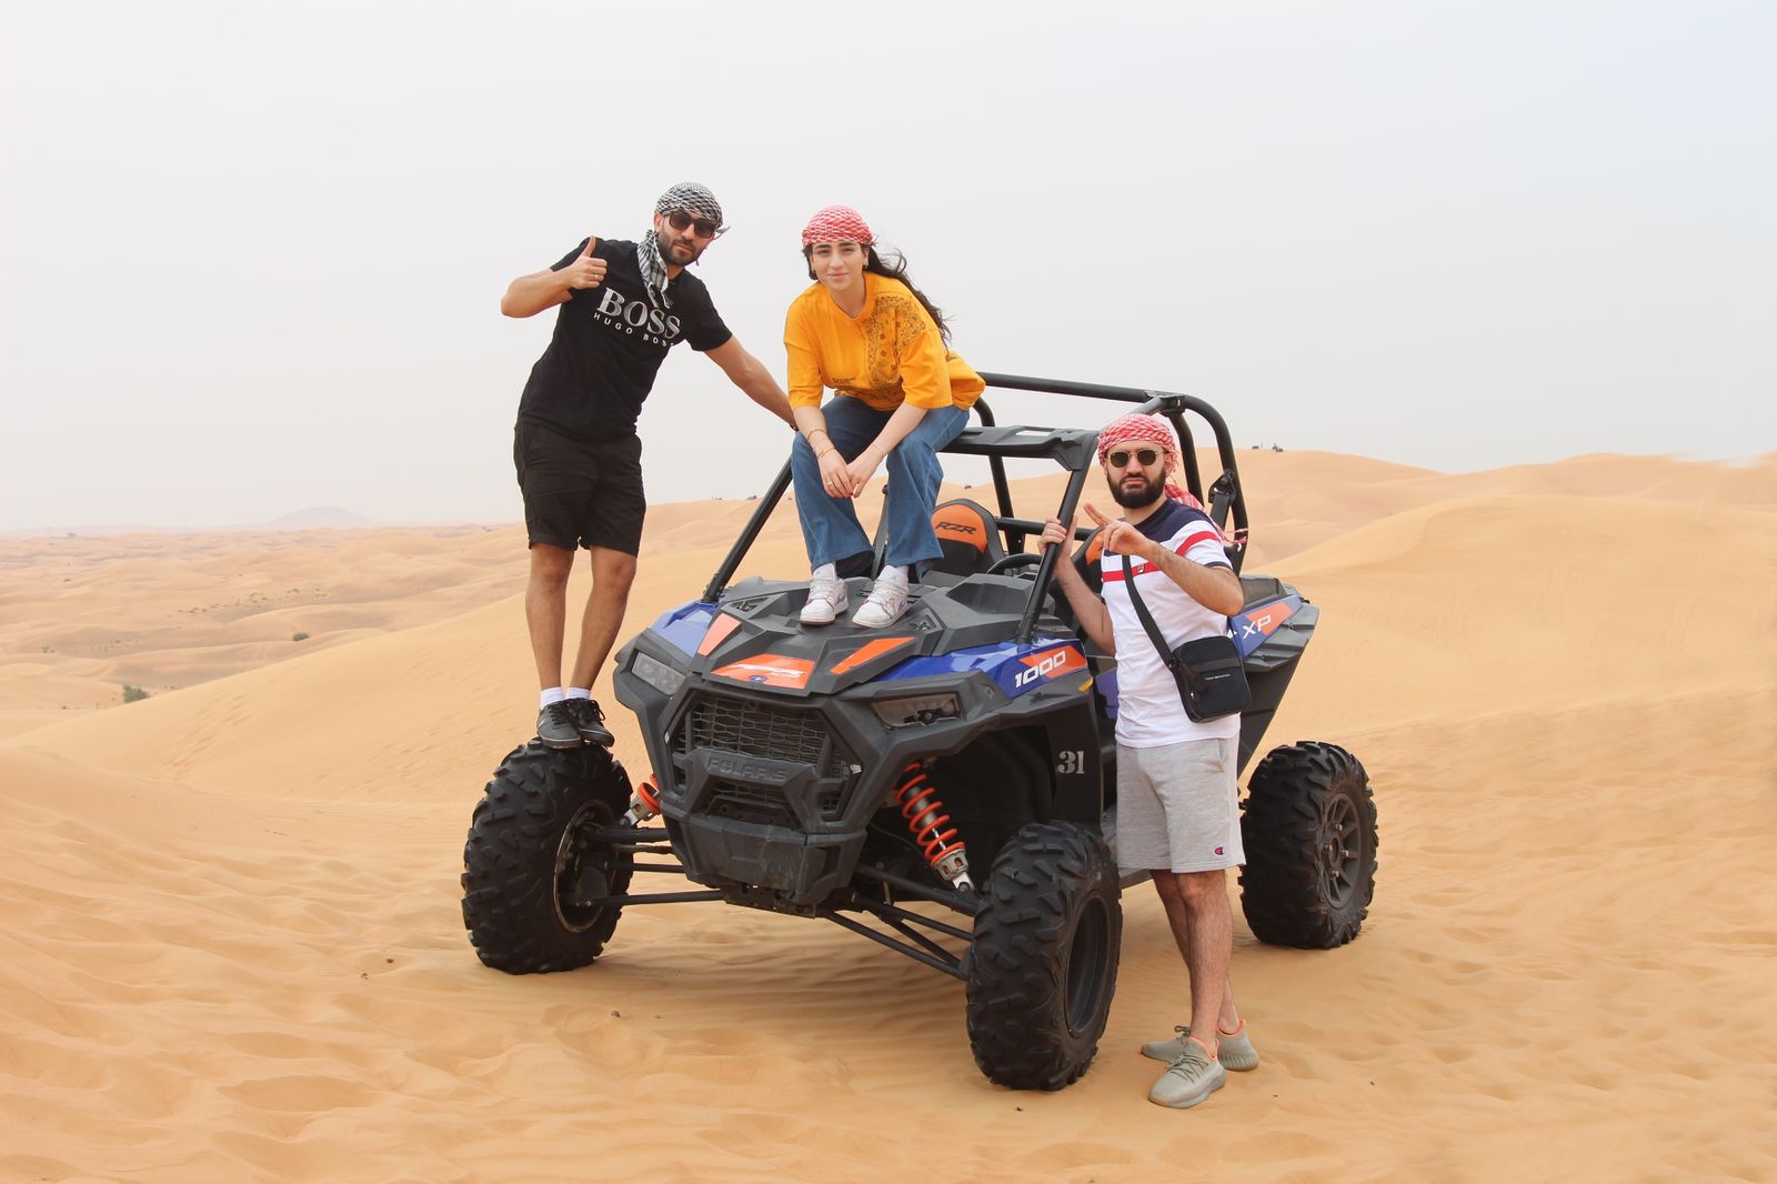
{"label": "black front tire nearest the camera, below the orange suspension spring", "polygon": [[1123,944],[1116,864],[1093,830],[1029,823],[981,887],[968,1044],[995,1084],[1059,1090],[1098,1052]]}

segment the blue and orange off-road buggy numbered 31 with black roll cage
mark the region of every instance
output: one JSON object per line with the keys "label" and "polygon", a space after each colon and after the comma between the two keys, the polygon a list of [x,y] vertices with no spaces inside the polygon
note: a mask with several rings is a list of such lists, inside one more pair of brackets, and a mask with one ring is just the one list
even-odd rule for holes
{"label": "blue and orange off-road buggy numbered 31 with black roll cage", "polygon": [[[1247,508],[1221,416],[1189,395],[983,377],[990,389],[1136,404],[1178,432],[1185,487],[1246,588],[1230,620],[1253,692],[1244,770],[1319,608],[1240,571]],[[1095,535],[1079,532],[1073,556],[1034,544],[1050,514],[1073,519],[1098,473],[1096,432],[999,427],[986,400],[976,412],[979,425],[945,452],[986,459],[997,512],[938,507],[944,558],[904,617],[805,628],[805,580],[736,580],[789,487],[785,464],[702,594],[617,654],[617,697],[636,713],[654,775],[633,784],[601,747],[531,741],[506,756],[464,850],[464,923],[485,964],[586,965],[633,905],[819,917],[963,980],[968,1040],[992,1081],[1057,1090],[1086,1072],[1116,990],[1127,887],[1114,859],[1116,663],[1054,588],[1056,564],[1089,555]],[[1207,425],[1221,462],[1208,482],[1192,423]],[[1008,459],[1066,471],[1061,505],[1020,517]],[[857,596],[873,572],[841,574]],[[1242,839],[1242,908],[1258,939],[1356,937],[1375,805],[1349,752],[1272,748],[1247,780]],[[657,873],[695,887],[643,889]]]}

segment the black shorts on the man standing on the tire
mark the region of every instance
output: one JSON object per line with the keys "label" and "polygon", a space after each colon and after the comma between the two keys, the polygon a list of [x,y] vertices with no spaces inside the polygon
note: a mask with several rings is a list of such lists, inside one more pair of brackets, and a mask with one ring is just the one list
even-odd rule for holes
{"label": "black shorts on the man standing on the tire", "polygon": [[641,439],[583,444],[537,423],[512,432],[512,462],[524,491],[524,526],[531,546],[563,551],[610,548],[634,555],[641,548]]}

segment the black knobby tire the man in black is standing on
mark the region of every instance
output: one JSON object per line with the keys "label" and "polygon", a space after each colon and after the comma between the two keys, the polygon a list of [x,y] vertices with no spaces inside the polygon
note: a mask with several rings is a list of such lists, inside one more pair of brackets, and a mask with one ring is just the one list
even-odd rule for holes
{"label": "black knobby tire the man in black is standing on", "polygon": [[629,775],[608,748],[514,748],[469,823],[462,923],[487,965],[542,974],[604,951],[629,891],[627,862],[597,832],[629,809]]}

